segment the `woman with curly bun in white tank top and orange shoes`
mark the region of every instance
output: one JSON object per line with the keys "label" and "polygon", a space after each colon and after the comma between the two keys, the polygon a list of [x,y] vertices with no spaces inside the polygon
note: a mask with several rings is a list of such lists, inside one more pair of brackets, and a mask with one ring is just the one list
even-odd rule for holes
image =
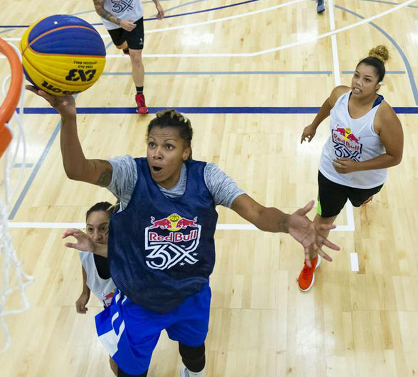
{"label": "woman with curly bun in white tank top and orange shoes", "polygon": [[[332,90],[314,121],[305,127],[301,143],[314,138],[319,124],[330,115],[331,135],[319,164],[318,207],[314,222],[333,224],[347,199],[360,206],[380,191],[387,168],[402,159],[403,132],[392,107],[377,94],[385,76],[389,52],[377,46],[362,59],[351,87]],[[324,237],[329,231],[324,232]],[[299,275],[299,288],[309,290],[321,259],[311,248]]]}

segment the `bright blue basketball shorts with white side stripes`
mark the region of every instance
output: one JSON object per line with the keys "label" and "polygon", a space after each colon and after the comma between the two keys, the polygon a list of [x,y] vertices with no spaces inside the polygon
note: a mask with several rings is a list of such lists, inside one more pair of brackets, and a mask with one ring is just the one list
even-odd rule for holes
{"label": "bright blue basketball shorts with white side stripes", "polygon": [[148,370],[162,330],[189,347],[204,343],[208,333],[211,290],[205,285],[173,311],[160,314],[139,306],[116,289],[110,306],[97,314],[99,340],[118,367],[127,374]]}

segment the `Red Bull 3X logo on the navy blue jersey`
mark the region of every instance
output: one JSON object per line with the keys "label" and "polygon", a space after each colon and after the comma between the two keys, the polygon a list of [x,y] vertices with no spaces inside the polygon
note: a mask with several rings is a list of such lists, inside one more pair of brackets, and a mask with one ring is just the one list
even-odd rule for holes
{"label": "Red Bull 3X logo on the navy blue jersey", "polygon": [[173,213],[162,219],[151,216],[150,225],[145,228],[145,257],[148,267],[155,270],[187,264],[194,265],[199,260],[196,249],[199,246],[201,225],[197,217],[187,219]]}

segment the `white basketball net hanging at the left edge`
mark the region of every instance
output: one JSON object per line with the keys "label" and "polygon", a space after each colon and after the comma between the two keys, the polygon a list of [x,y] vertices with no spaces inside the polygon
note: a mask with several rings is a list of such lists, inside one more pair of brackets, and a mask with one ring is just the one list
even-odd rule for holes
{"label": "white basketball net hanging at the left edge", "polygon": [[[22,61],[20,53],[15,46],[11,45]],[[3,95],[6,96],[10,76],[3,82]],[[23,130],[23,94],[25,88],[22,85],[18,108],[20,112],[15,111],[12,120],[6,124],[6,127],[12,132],[13,140],[5,151],[4,158],[4,176],[0,175],[0,263],[3,263],[3,276],[0,273],[0,326],[4,333],[4,344],[0,344],[0,353],[4,352],[11,344],[10,332],[5,323],[5,317],[12,314],[23,313],[30,307],[28,298],[25,294],[25,287],[32,283],[33,277],[26,275],[22,270],[22,263],[18,260],[16,250],[13,247],[12,236],[8,229],[9,206],[15,197],[18,187],[22,182],[23,169],[26,160],[26,141]],[[22,166],[20,168],[18,180],[13,187],[10,185],[10,173],[13,168],[18,152],[22,150]],[[1,266],[1,264],[0,264]],[[20,305],[17,308],[10,308],[8,297],[13,293],[20,294]],[[16,302],[16,300],[14,300]]]}

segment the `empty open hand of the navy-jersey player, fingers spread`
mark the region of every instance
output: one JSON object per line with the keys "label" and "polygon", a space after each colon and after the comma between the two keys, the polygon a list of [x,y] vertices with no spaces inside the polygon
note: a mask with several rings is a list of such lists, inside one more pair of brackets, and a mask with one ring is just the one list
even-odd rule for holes
{"label": "empty open hand of the navy-jersey player, fingers spread", "polygon": [[302,244],[305,249],[305,261],[308,267],[311,267],[311,258],[309,255],[309,248],[314,246],[318,254],[329,262],[332,258],[322,250],[323,246],[329,247],[333,250],[339,250],[339,247],[321,236],[321,231],[334,229],[335,225],[331,224],[315,224],[306,217],[306,214],[314,206],[314,201],[311,200],[306,206],[298,209],[289,217],[289,234]]}

